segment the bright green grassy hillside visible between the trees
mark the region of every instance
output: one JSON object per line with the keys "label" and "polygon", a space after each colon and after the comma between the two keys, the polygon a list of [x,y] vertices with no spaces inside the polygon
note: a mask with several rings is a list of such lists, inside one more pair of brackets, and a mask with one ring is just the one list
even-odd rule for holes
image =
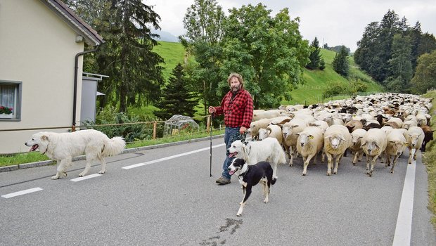
{"label": "bright green grassy hillside visible between the trees", "polygon": [[[164,77],[167,79],[171,75],[172,69],[184,60],[184,47],[180,43],[159,41],[160,45],[156,46],[154,51],[165,59]],[[282,104],[312,104],[321,101],[323,91],[328,88],[331,82],[340,82],[350,84],[350,82],[338,75],[332,68],[332,62],[335,58],[335,52],[321,48],[321,56],[326,62],[326,69],[321,70],[304,70],[304,84],[299,85],[297,89],[291,91],[292,100],[282,101]],[[365,82],[368,86],[368,92],[382,91],[382,87],[373,82],[371,77],[365,75],[359,70],[354,60],[350,57],[350,74]]]}

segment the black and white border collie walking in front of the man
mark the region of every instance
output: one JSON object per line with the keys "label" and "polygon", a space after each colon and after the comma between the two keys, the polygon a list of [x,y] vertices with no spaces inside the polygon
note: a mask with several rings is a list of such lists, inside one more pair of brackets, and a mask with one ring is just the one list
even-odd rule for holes
{"label": "black and white border collie walking in front of the man", "polygon": [[235,158],[229,166],[229,174],[238,175],[239,183],[241,183],[244,193],[244,198],[238,210],[236,216],[241,216],[244,209],[245,203],[251,194],[252,186],[257,185],[257,183],[262,183],[265,200],[264,202],[269,202],[269,188],[271,184],[276,183],[276,178],[273,178],[273,169],[269,162],[257,162],[254,165],[248,165],[245,160],[240,158]]}

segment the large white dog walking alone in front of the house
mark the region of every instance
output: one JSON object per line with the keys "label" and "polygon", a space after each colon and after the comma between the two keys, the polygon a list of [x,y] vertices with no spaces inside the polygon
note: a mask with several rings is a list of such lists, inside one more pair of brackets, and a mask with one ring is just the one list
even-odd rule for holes
{"label": "large white dog walking alone in front of the house", "polygon": [[59,179],[61,176],[67,176],[66,170],[72,165],[72,157],[86,155],[86,167],[79,174],[85,176],[91,163],[99,160],[101,162],[101,171],[105,173],[106,162],[104,157],[122,153],[126,142],[120,136],[108,138],[101,131],[82,130],[66,133],[39,132],[32,135],[32,139],[25,143],[26,146],[32,146],[30,151],[39,149],[41,154],[56,160],[58,162],[57,173],[51,179]]}

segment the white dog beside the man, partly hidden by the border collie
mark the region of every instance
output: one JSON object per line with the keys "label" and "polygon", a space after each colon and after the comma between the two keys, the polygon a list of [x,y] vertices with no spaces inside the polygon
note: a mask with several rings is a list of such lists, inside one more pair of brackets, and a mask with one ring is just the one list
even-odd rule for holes
{"label": "white dog beside the man, partly hidden by the border collie", "polygon": [[277,179],[277,164],[286,163],[286,155],[277,138],[265,138],[262,141],[243,143],[234,141],[229,150],[229,157],[241,158],[249,165],[257,162],[269,162],[273,169],[273,177]]}

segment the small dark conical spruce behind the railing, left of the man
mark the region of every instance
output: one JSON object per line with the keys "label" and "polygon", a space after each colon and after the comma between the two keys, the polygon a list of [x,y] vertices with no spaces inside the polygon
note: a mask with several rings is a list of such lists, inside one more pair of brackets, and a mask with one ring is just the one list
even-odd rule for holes
{"label": "small dark conical spruce behind the railing, left of the man", "polygon": [[160,119],[169,119],[173,115],[193,117],[193,108],[197,105],[197,101],[193,100],[194,95],[188,89],[184,68],[180,63],[174,67],[171,75],[160,101],[155,104],[160,110],[153,113]]}

